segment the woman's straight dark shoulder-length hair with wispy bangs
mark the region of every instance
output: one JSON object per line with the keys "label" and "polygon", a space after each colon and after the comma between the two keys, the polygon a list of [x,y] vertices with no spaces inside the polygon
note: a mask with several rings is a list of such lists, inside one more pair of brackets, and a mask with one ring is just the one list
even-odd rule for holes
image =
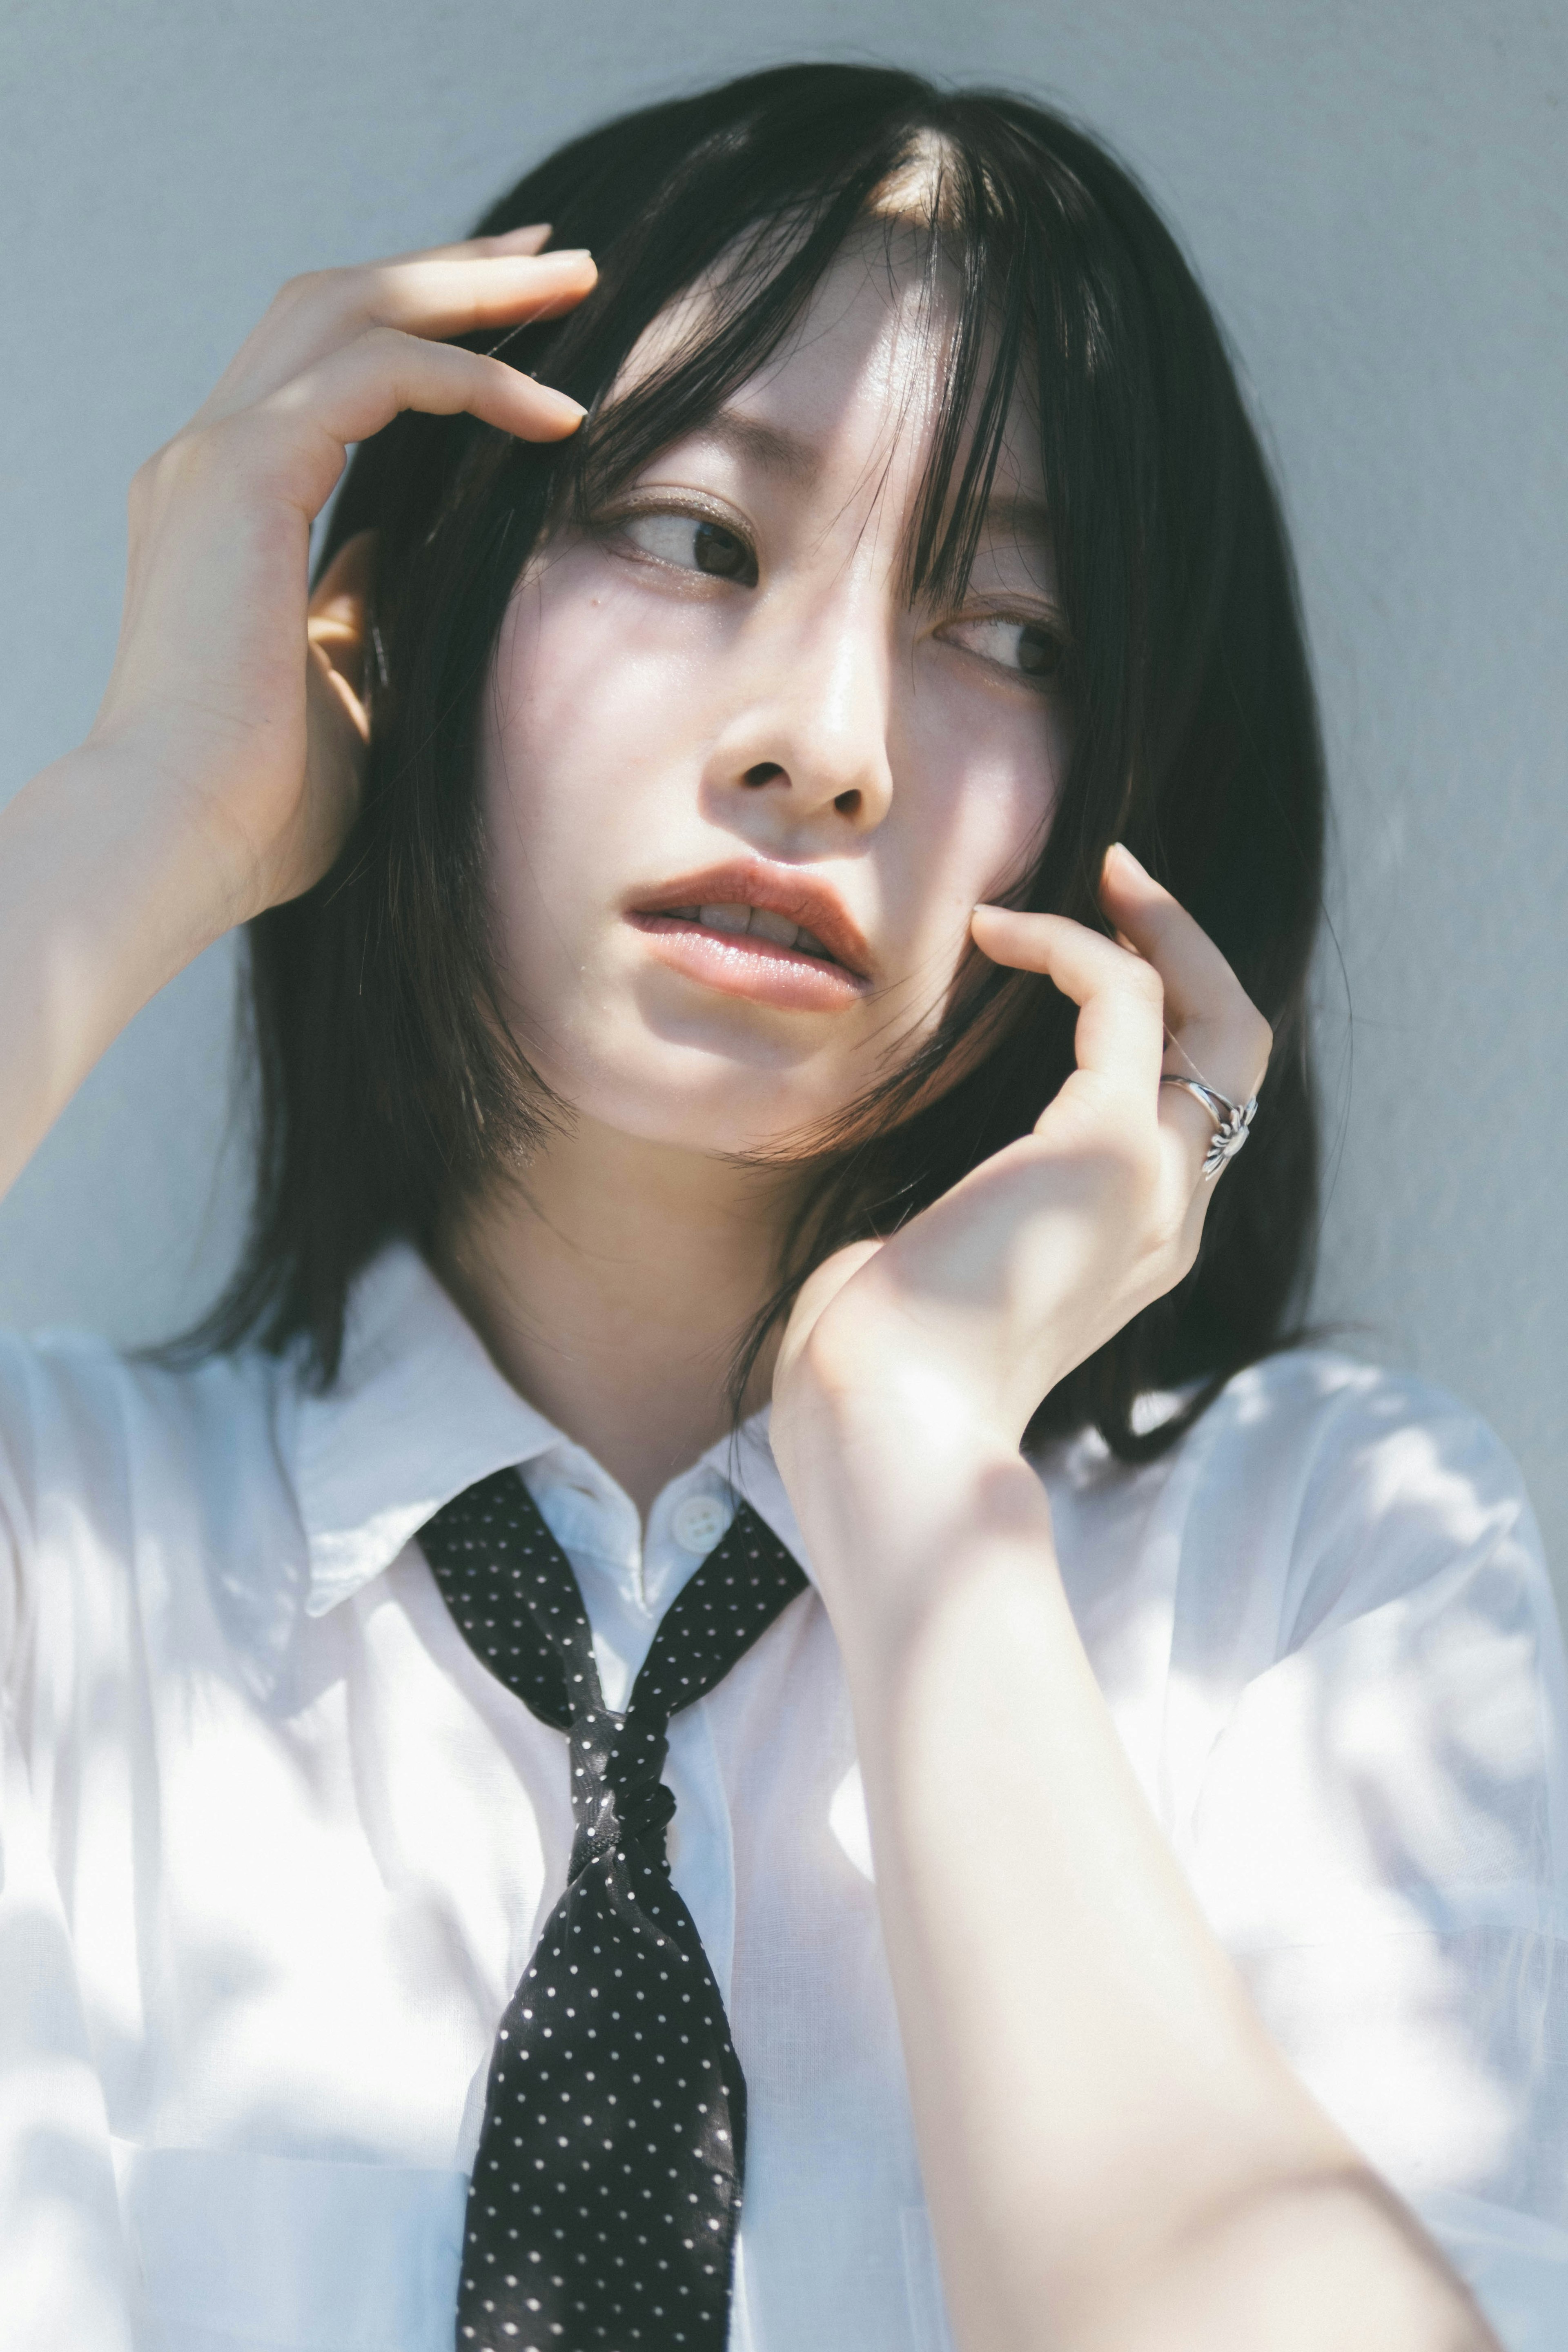
{"label": "woman's straight dark shoulder-length hair with wispy bangs", "polygon": [[[1093,1423],[1145,1458],[1288,1341],[1316,1230],[1305,993],[1324,762],[1279,501],[1220,332],[1147,198],[1060,115],[910,73],[785,66],[574,139],[480,223],[550,221],[555,245],[599,263],[581,308],[491,346],[590,409],[574,440],[407,414],[348,468],[322,562],[378,532],[369,771],[331,873],[249,927],[256,1204],[200,1345],[301,1348],[331,1383],[376,1249],[430,1249],[456,1200],[567,1115],[498,1021],[475,746],[508,600],[559,520],[592,524],[780,348],[889,188],[924,230],[924,266],[957,287],[910,597],[961,593],[1013,397],[1039,423],[1072,753],[1016,903],[1103,929],[1095,877],[1124,840],[1276,1030],[1199,1263],[1044,1399],[1032,1437]],[[689,306],[691,332],[611,400],[644,327],[696,280],[712,299]],[[1004,990],[997,1042],[933,1087]],[[879,1084],[875,1117],[856,1105],[818,1138],[736,1397],[827,1249],[889,1232],[1027,1134],[1072,1068],[1074,1009],[1048,983],[987,969],[959,995]],[[1138,1399],[1173,1388],[1180,1411],[1150,1428]]]}

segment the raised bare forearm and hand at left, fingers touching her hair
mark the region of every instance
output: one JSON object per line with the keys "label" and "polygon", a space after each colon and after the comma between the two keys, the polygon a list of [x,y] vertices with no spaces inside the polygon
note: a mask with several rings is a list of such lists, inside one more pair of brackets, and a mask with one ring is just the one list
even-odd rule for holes
{"label": "raised bare forearm and hand at left, fingers touching her hair", "polygon": [[0,811],[0,1190],[134,1011],[209,941],[308,889],[357,795],[364,546],[308,612],[346,445],[400,409],[559,440],[576,402],[430,336],[581,301],[545,228],[284,287],[132,485],[115,668],[92,736]]}

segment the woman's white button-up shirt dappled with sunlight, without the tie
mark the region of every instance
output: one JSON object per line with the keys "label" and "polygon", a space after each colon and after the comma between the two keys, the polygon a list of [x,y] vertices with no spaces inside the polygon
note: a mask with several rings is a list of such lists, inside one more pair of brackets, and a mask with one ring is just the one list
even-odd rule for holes
{"label": "woman's white button-up shirt dappled with sunlight, without the tie", "polygon": [[[522,1465],[609,1705],[766,1421],[628,1496],[421,1261],[343,1376],[0,1343],[0,2343],[449,2352],[501,2011],[562,1893],[564,1738],[411,1543]],[[1568,2343],[1568,1700],[1519,1477],[1333,1355],[1140,1470],[1039,1463],[1143,1790],[1269,2032],[1474,2281]],[[950,2343],[835,1637],[799,1595],[679,1715],[675,1882],[750,2089],[731,2352]],[[1018,1825],[1027,1839],[1027,1820]]]}

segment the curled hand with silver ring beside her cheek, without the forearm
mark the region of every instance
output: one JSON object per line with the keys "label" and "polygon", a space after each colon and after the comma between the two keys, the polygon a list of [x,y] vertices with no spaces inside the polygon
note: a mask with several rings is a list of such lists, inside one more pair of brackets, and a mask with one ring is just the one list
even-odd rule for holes
{"label": "curled hand with silver ring beside her cheek, without the forearm", "polygon": [[1121,847],[1100,903],[1124,943],[1065,915],[976,908],[992,962],[1048,974],[1079,1007],[1077,1068],[1030,1136],[891,1240],[811,1275],[773,1376],[790,1482],[823,1411],[936,1416],[947,1437],[1016,1451],[1041,1397],[1190,1270],[1220,1181],[1204,1176],[1213,1120],[1161,1087],[1161,1070],[1246,1103],[1272,1033],[1213,941]]}

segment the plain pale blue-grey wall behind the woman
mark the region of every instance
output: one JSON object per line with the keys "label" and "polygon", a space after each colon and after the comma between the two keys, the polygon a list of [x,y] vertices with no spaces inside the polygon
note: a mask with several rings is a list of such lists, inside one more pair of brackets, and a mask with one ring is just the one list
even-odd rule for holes
{"label": "plain pale blue-grey wall behind the woman", "polygon": [[[1490,1416],[1561,1571],[1561,0],[5,0],[0,793],[87,727],[125,482],[282,278],[797,54],[1048,94],[1185,235],[1284,477],[1338,786],[1321,1310]],[[219,948],[82,1089],[0,1209],[2,1319],[141,1338],[209,1296],[230,1000]]]}

